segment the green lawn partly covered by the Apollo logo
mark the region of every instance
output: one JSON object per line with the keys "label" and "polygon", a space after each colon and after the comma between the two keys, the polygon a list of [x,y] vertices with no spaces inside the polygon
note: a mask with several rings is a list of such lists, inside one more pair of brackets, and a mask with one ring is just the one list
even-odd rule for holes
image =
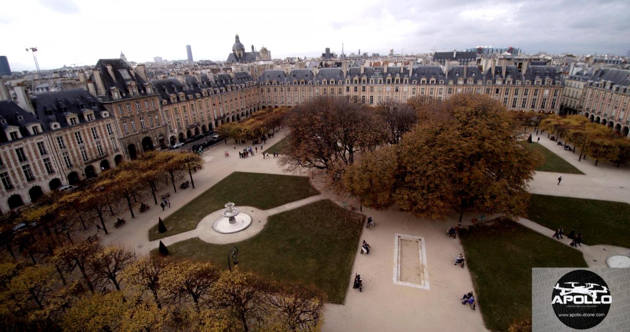
{"label": "green lawn partly covered by the Apollo logo", "polygon": [[506,331],[531,319],[533,267],[587,267],[580,251],[515,222],[474,226],[459,234],[478,309],[491,330]]}

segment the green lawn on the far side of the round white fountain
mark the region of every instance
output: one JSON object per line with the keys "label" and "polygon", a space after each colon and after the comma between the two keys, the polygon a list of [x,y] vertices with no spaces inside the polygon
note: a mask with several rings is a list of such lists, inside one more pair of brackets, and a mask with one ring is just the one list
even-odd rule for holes
{"label": "green lawn on the far side of the round white fountain", "polygon": [[164,219],[167,232],[159,233],[156,223],[149,240],[195,229],[203,217],[227,202],[266,210],[318,194],[306,176],[234,172]]}

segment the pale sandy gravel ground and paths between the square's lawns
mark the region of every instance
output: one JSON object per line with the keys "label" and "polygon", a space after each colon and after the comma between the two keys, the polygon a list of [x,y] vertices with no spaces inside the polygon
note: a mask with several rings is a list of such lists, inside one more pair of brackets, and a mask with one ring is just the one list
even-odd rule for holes
{"label": "pale sandy gravel ground and paths between the square's lawns", "polygon": [[[282,133],[275,135],[273,139],[268,140],[264,148],[272,146],[282,137],[284,137]],[[535,139],[536,135],[534,135]],[[539,172],[530,184],[531,192],[630,202],[630,172],[627,166],[616,168],[600,163],[595,167],[593,161],[590,160],[580,163],[577,161],[577,154],[574,155],[561,147],[554,146],[555,142],[548,140],[546,134],[541,135],[540,144],[578,167],[585,175]],[[261,154],[255,154],[247,159],[239,158],[237,151],[243,149],[244,146],[246,144],[236,146],[237,150],[235,150],[229,142],[229,144],[217,144],[203,152],[205,165],[202,170],[193,175],[195,189],[188,188],[173,193],[172,186],[169,186],[163,193],[171,193],[170,209],[167,207],[163,212],[159,206],[151,205],[149,211],[137,213],[135,219],[130,219],[127,212],[123,214],[127,218],[127,224],[119,229],[110,227],[110,234],[101,237],[101,242],[119,244],[134,249],[139,255],[146,255],[151,249],[157,248],[159,243],[159,241],[149,241],[148,236],[149,229],[156,224],[158,217],[165,219],[232,172],[286,174],[278,165],[277,159],[263,159]],[[260,149],[260,145],[258,148]],[[231,157],[224,157],[224,151],[231,152]],[[311,172],[297,175],[311,175]],[[556,185],[558,176],[563,176],[563,181],[559,186]],[[180,182],[185,180],[180,180]],[[254,222],[246,231],[229,234],[231,238],[210,236],[212,222],[200,222],[197,229],[163,238],[162,241],[167,245],[194,237],[199,237],[209,243],[241,241],[260,232],[265,226],[268,215],[326,198],[340,206],[343,206],[342,202],[345,201],[348,205],[359,207],[358,202],[350,198],[337,197],[334,193],[324,190],[323,184],[319,181],[312,181],[312,185],[321,192],[321,195],[270,210],[243,207],[248,214],[252,215]],[[253,183],[252,190],[255,189],[255,183]],[[239,202],[234,203],[239,207]],[[400,212],[396,207],[386,211],[365,208],[362,210],[362,213],[372,217],[376,224],[373,229],[363,229],[359,242],[367,241],[372,251],[369,255],[360,255],[360,244],[357,244],[357,255],[352,270],[352,277],[358,273],[363,278],[364,290],[359,292],[357,289],[352,289],[353,278],[348,279],[345,304],[326,306],[324,331],[358,329],[362,331],[461,331],[462,328],[466,331],[486,330],[479,312],[483,310],[483,299],[478,299],[476,311],[468,306],[462,306],[459,301],[462,294],[474,292],[474,289],[468,269],[453,265],[455,256],[464,251],[459,239],[449,238],[445,234],[450,226],[457,224],[456,214],[449,215],[445,221],[432,222]],[[465,219],[470,220],[471,217],[474,216],[466,215]],[[209,219],[214,220],[213,218],[214,216],[209,216]],[[258,220],[261,222],[259,223]],[[518,222],[549,237],[553,234],[553,231],[530,220],[521,219]],[[404,241],[401,242],[401,239]],[[602,248],[607,250],[602,250]],[[601,266],[605,262],[605,257],[613,252],[627,253],[628,251],[627,248],[610,246],[583,246],[578,249],[583,251],[589,266],[593,267]],[[334,259],[331,257],[331,260]],[[246,262],[242,263],[246,264]],[[396,273],[399,273],[399,278],[404,279],[401,280],[402,282],[396,282]],[[405,280],[410,282],[406,284]],[[417,287],[417,285],[423,287]]]}

